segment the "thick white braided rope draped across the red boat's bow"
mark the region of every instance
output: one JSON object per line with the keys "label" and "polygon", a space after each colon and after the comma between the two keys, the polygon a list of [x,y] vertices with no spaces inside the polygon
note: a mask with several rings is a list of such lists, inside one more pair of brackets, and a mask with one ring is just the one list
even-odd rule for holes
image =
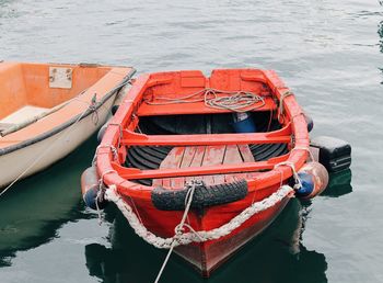
{"label": "thick white braided rope draped across the red boat's bow", "polygon": [[[282,185],[279,188],[279,190],[275,193],[272,193],[270,196],[253,203],[247,208],[245,208],[243,212],[241,212],[239,215],[233,217],[230,222],[227,224],[211,229],[211,230],[199,230],[195,231],[194,229],[190,229],[190,231],[183,233],[181,235],[175,234],[173,237],[170,238],[162,238],[153,233],[149,231],[138,219],[137,215],[134,213],[131,206],[124,202],[123,197],[117,193],[116,185],[111,185],[105,191],[105,199],[107,201],[114,202],[117,207],[121,211],[124,216],[127,218],[129,225],[132,227],[135,233],[143,238],[147,242],[153,245],[156,248],[161,249],[170,249],[172,246],[177,247],[181,245],[188,245],[190,242],[204,242],[208,240],[214,240],[219,239],[221,237],[224,237],[232,233],[234,229],[239,228],[244,222],[249,219],[253,215],[260,213],[277,203],[279,203],[281,200],[283,200],[286,196],[288,196],[291,192],[294,190],[289,185]],[[188,199],[189,201],[189,199]],[[185,216],[186,217],[186,216]],[[184,217],[183,217],[184,218]],[[182,224],[182,223],[181,223]],[[188,227],[185,223],[179,227]],[[173,247],[173,248],[174,248]]]}

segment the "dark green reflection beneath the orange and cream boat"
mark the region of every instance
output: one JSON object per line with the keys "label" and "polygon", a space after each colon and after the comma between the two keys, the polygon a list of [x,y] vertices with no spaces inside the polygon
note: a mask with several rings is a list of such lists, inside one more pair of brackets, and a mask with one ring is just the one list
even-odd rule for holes
{"label": "dark green reflection beneath the orange and cream boat", "polygon": [[[71,220],[94,217],[83,213],[78,186],[96,146],[93,135],[49,169],[14,184],[0,197],[0,267],[12,265],[18,251],[30,250],[56,237]],[[70,168],[70,170],[68,170]]]}

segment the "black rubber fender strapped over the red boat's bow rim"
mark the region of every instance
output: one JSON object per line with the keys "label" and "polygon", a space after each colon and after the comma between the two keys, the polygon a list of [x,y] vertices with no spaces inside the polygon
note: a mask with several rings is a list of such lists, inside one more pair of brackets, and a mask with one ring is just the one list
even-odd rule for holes
{"label": "black rubber fender strapped over the red boat's bow rim", "polygon": [[[184,211],[187,191],[188,189],[174,191],[158,186],[152,191],[151,200],[160,211]],[[192,208],[200,210],[212,205],[232,203],[243,200],[246,195],[247,182],[245,180],[214,185],[200,184],[196,185]]]}

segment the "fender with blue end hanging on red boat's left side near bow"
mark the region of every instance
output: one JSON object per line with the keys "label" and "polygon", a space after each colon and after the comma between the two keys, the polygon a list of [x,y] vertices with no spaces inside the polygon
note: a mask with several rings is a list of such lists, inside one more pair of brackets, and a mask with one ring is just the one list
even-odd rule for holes
{"label": "fender with blue end hanging on red boat's left side near bow", "polygon": [[100,190],[98,174],[95,166],[89,167],[81,176],[82,199],[88,207],[92,210],[104,210],[108,202],[104,197],[97,200]]}

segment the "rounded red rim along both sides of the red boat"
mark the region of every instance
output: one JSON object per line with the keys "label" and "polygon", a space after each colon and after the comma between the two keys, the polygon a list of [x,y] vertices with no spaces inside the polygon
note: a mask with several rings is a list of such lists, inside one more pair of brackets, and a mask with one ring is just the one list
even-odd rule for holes
{"label": "rounded red rim along both sides of the red boat", "polygon": [[[285,83],[279,79],[275,71],[260,71],[264,73],[267,84],[272,91],[272,94],[280,101],[281,97],[283,97],[285,93],[289,92],[289,88],[285,86]],[[113,154],[112,149],[115,148],[118,150],[115,145],[119,145],[123,138],[123,128],[128,125],[128,122],[132,122],[131,124],[136,125],[138,124],[136,111],[138,110],[139,103],[142,103],[143,93],[148,88],[155,86],[156,82],[159,81],[151,80],[150,73],[141,75],[136,80],[126,99],[123,101],[119,110],[111,121],[96,152],[97,172],[100,176],[102,176],[102,181],[106,185],[115,184],[117,186],[117,191],[119,191],[121,194],[142,200],[150,200],[153,186],[138,184],[126,180],[125,178],[121,178],[113,166],[113,163],[115,163],[115,161],[113,161],[115,155]],[[161,83],[161,81],[159,83]],[[304,113],[301,106],[298,104],[294,95],[286,97],[283,99],[283,104],[288,120],[285,121],[285,123],[291,122],[291,135],[294,136],[294,147],[292,149],[291,149],[289,158],[286,161],[292,163],[295,170],[299,170],[304,165],[309,155],[307,150],[305,149],[309,148],[309,132],[306,128],[306,122],[304,120]],[[132,170],[135,169],[132,168]],[[248,184],[248,192],[254,192],[255,190],[262,190],[276,185],[281,180],[288,180],[291,176],[291,167],[275,167],[272,170],[263,172],[253,179],[246,179]]]}

